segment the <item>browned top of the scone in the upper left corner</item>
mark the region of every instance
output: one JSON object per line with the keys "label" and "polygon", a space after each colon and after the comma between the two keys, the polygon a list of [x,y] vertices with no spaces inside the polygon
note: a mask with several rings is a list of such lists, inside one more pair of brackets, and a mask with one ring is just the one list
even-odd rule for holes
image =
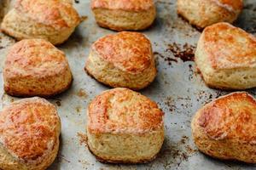
{"label": "browned top of the scone in the upper left corner", "polygon": [[79,23],[79,15],[73,6],[60,0],[17,0],[15,9],[38,23],[59,30]]}

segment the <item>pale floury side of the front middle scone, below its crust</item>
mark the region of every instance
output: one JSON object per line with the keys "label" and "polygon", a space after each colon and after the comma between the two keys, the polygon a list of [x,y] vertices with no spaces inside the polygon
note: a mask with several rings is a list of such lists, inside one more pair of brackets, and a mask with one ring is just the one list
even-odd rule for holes
{"label": "pale floury side of the front middle scone, below its crust", "polygon": [[[163,127],[160,127],[160,129],[153,132],[143,134],[110,134],[90,133],[90,130],[87,128],[87,136],[88,148],[99,161],[108,163],[136,164],[154,160],[164,141],[164,129]],[[151,143],[148,143],[149,140]],[[154,145],[152,145],[152,141],[154,141]],[[94,145],[98,146],[98,144],[104,144],[104,149],[99,151],[99,148],[96,149],[93,147]],[[119,144],[121,144],[121,146]],[[115,146],[114,150],[113,146]],[[116,146],[119,147],[116,148]],[[148,146],[148,149],[144,148],[145,146]],[[126,152],[130,153],[124,153],[125,148],[127,147],[129,147],[129,151],[126,150]],[[151,152],[144,156],[140,156],[139,154],[137,155],[138,150],[140,150],[139,153],[142,153],[143,151],[148,152],[148,150],[151,150]]]}

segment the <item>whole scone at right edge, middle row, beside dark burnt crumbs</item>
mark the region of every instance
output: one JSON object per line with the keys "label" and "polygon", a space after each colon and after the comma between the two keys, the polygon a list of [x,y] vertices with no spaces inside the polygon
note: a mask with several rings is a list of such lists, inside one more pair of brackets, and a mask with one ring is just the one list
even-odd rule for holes
{"label": "whole scone at right edge, middle row, beside dark burnt crumbs", "polygon": [[256,38],[228,23],[208,26],[198,42],[195,63],[209,87],[254,88]]}

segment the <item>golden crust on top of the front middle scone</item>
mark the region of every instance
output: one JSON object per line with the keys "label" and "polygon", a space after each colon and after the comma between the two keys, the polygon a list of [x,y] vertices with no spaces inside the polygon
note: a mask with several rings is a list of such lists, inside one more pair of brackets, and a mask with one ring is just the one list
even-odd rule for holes
{"label": "golden crust on top of the front middle scone", "polygon": [[146,133],[163,126],[156,103],[127,88],[98,95],[87,113],[90,133]]}

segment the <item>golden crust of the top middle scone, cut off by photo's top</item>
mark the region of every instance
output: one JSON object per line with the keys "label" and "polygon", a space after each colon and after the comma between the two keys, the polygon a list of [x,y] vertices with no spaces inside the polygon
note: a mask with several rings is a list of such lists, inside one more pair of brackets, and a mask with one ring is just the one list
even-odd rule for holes
{"label": "golden crust of the top middle scone, cut off by photo's top", "polygon": [[153,0],[92,0],[90,8],[122,9],[140,12],[154,7]]}

